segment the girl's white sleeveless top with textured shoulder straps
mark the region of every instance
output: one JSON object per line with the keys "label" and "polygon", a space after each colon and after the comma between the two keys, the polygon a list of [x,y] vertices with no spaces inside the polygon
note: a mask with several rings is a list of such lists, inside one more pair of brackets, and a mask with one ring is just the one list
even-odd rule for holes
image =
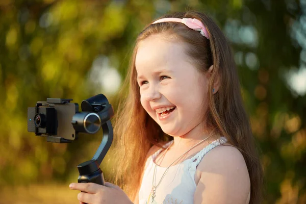
{"label": "girl's white sleeveless top with textured shoulder straps", "polygon": [[[225,137],[221,137],[211,144],[207,145],[199,151],[194,157],[183,161],[180,164],[171,166],[164,176],[164,179],[156,189],[156,197],[151,202],[149,197],[152,189],[152,179],[155,168],[154,160],[163,150],[160,148],[149,157],[145,164],[145,171],[143,174],[140,190],[139,190],[139,204],[191,204],[193,203],[193,196],[196,189],[194,175],[197,165],[200,163],[203,156],[216,146],[225,143]],[[166,143],[163,147],[167,148],[173,140]],[[156,185],[161,180],[161,177],[167,167],[156,166]]]}

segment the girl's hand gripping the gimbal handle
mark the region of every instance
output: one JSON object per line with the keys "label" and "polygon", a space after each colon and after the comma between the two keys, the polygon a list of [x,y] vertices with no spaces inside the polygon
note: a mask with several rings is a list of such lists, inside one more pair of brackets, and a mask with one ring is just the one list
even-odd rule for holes
{"label": "girl's hand gripping the gimbal handle", "polygon": [[119,186],[105,182],[105,186],[94,183],[72,183],[70,189],[83,191],[78,194],[80,204],[133,204]]}

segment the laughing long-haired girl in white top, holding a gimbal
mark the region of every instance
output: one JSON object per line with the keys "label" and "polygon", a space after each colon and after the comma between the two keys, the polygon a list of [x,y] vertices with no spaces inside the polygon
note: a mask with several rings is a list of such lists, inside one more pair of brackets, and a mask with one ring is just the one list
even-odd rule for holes
{"label": "laughing long-haired girl in white top, holding a gimbal", "polygon": [[111,183],[74,183],[81,203],[261,202],[233,54],[212,19],[189,11],[147,25],[129,79],[115,125],[116,150],[125,150],[115,183],[128,194]]}

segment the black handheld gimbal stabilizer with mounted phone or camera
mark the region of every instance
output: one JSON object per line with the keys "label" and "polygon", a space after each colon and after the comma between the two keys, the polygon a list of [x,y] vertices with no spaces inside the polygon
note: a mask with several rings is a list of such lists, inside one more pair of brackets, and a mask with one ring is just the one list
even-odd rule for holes
{"label": "black handheld gimbal stabilizer with mounted phone or camera", "polygon": [[93,158],[78,165],[79,183],[105,185],[103,172],[99,168],[113,142],[113,126],[110,119],[114,110],[103,94],[95,95],[79,105],[72,99],[47,98],[28,108],[28,131],[47,138],[48,142],[67,143],[78,138],[78,133],[94,134],[100,127],[103,139]]}

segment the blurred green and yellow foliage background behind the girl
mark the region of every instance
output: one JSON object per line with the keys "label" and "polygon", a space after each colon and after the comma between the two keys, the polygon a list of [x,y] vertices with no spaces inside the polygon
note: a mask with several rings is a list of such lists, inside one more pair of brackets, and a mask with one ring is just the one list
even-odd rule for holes
{"label": "blurred green and yellow foliage background behind the girl", "polygon": [[[196,9],[230,39],[265,170],[264,203],[306,203],[306,1],[0,1],[0,203],[79,203],[68,184],[101,133],[70,144],[27,132],[27,107],[104,93],[116,109],[136,36]],[[106,180],[112,152],[101,164]]]}

